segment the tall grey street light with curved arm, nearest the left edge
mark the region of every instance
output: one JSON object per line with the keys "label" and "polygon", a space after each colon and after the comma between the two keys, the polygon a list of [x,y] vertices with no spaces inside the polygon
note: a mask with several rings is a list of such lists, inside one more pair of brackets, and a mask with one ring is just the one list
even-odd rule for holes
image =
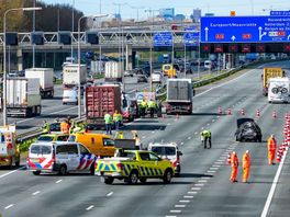
{"label": "tall grey street light with curved arm, nearest the left edge", "polygon": [[7,14],[12,11],[38,11],[42,10],[40,7],[33,7],[33,8],[15,8],[15,9],[9,9],[4,12],[4,19],[3,19],[3,34],[4,34],[4,42],[3,42],[3,126],[7,126],[7,57],[5,57],[5,19]]}

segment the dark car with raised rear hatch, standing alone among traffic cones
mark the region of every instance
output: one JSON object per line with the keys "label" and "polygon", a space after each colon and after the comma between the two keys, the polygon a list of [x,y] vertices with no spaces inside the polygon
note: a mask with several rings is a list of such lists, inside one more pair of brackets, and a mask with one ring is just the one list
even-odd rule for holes
{"label": "dark car with raised rear hatch, standing alone among traffic cones", "polygon": [[253,118],[238,118],[235,133],[236,141],[259,141],[261,142],[261,130]]}

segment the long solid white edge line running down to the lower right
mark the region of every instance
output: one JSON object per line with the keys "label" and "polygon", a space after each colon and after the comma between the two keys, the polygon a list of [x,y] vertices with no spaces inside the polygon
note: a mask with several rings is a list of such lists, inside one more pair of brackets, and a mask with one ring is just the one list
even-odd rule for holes
{"label": "long solid white edge line running down to the lower right", "polygon": [[270,192],[268,194],[268,197],[267,197],[267,201],[266,201],[266,204],[264,206],[264,209],[263,209],[263,213],[261,213],[260,217],[266,217],[268,215],[269,207],[271,205],[272,196],[274,196],[274,193],[275,193],[279,176],[280,176],[281,171],[282,171],[282,167],[283,167],[283,163],[285,163],[285,159],[286,159],[287,152],[288,152],[288,149],[286,150],[285,156],[282,157],[282,160],[281,160],[281,162],[279,164],[279,168],[278,168],[277,172],[276,172],[276,175],[275,175],[275,179],[272,181],[272,185],[271,185]]}

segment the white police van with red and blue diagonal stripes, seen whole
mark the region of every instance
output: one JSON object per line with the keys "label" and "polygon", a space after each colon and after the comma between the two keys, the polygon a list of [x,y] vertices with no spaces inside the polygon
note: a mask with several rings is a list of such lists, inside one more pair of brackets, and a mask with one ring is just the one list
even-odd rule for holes
{"label": "white police van with red and blue diagonal stripes, seen whole", "polygon": [[32,144],[29,149],[26,169],[33,174],[41,172],[90,172],[94,174],[97,157],[78,142],[56,141]]}

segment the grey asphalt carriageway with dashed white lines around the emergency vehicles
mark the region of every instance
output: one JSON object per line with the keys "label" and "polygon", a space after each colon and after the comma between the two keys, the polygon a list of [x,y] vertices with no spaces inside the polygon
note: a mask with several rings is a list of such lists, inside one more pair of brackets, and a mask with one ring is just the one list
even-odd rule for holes
{"label": "grey asphalt carriageway with dashed white lines around the emergency vehicles", "polygon": [[[285,61],[267,66],[289,68],[289,65]],[[268,165],[266,144],[270,134],[276,135],[278,144],[282,141],[283,116],[289,112],[289,105],[269,104],[261,95],[263,67],[243,70],[231,79],[198,89],[192,115],[141,118],[125,126],[123,130],[126,133],[137,129],[144,144],[164,140],[179,145],[183,152],[181,175],[175,178],[171,184],[165,185],[161,180],[153,180],[137,185],[124,185],[121,181],[105,185],[100,178],[87,174],[35,176],[24,169],[2,170],[2,216],[203,217],[260,216],[263,212],[268,216],[289,216],[289,157],[283,164]],[[46,105],[52,105],[49,102],[45,101]],[[74,106],[69,112],[64,111],[69,106],[57,105],[59,100],[52,102],[55,107],[47,107],[44,115],[56,111],[66,115],[76,113]],[[217,113],[219,106],[223,108],[224,115]],[[228,107],[232,115],[225,113]],[[255,117],[256,110],[260,110],[260,117],[256,122],[263,132],[263,142],[235,141],[236,118],[241,116],[241,108],[245,110],[247,117]],[[274,111],[277,112],[277,118],[271,117]],[[25,124],[34,126],[35,121]],[[204,128],[212,132],[212,149],[201,146],[199,134]],[[241,161],[247,149],[252,155],[249,183],[241,182],[241,167],[238,182],[231,183],[227,152],[235,150]],[[280,179],[271,194],[274,179],[279,174],[277,171],[280,171]],[[265,209],[267,201],[269,206]]]}

